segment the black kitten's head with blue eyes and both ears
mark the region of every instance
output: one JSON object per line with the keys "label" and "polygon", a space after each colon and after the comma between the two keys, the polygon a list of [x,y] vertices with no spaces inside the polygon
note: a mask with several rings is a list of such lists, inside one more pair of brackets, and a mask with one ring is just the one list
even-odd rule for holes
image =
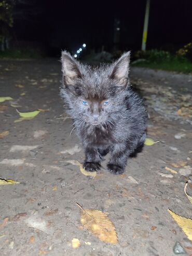
{"label": "black kitten's head with blue eyes and both ears", "polygon": [[61,90],[70,114],[82,124],[112,123],[111,114],[121,111],[128,85],[129,52],[111,66],[91,69],[67,52],[62,53],[64,89]]}

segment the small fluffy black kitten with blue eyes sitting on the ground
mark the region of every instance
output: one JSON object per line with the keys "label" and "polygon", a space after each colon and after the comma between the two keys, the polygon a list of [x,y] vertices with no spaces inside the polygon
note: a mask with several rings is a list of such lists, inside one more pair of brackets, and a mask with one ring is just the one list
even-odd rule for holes
{"label": "small fluffy black kitten with blue eyes sitting on the ground", "polygon": [[111,65],[91,68],[62,52],[61,96],[83,142],[88,171],[100,169],[110,151],[108,170],[123,173],[128,157],[145,140],[146,111],[129,84],[129,59],[127,52]]}

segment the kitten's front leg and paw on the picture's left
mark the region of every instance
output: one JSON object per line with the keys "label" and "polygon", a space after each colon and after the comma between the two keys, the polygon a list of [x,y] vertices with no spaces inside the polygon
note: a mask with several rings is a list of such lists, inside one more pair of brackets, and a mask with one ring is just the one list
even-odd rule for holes
{"label": "kitten's front leg and paw on the picture's left", "polygon": [[97,171],[101,167],[101,155],[97,149],[87,147],[85,149],[86,159],[84,161],[84,169],[87,171]]}

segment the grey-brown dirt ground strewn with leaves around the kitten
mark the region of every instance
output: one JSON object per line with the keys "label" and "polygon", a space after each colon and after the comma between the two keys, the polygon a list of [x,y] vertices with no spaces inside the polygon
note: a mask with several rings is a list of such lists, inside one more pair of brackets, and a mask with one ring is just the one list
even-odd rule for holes
{"label": "grey-brown dirt ground strewn with leaves around the kitten", "polygon": [[[0,133],[9,131],[0,139],[0,178],[20,182],[0,186],[1,256],[192,255],[192,242],[167,211],[191,217],[184,186],[192,172],[192,76],[131,69],[148,109],[147,137],[159,142],[144,146],[119,176],[106,170],[107,156],[95,178],[67,162],[83,163],[84,153],[63,111],[60,81],[58,60],[0,61],[0,97],[13,99],[0,103]],[[17,110],[37,109],[46,111],[15,123]],[[118,243],[83,228],[76,202],[107,212]]]}

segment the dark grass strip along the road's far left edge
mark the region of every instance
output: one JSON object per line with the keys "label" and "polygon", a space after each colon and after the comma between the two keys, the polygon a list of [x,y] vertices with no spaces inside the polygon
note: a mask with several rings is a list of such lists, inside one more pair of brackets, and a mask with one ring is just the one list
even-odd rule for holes
{"label": "dark grass strip along the road's far left edge", "polygon": [[39,50],[26,49],[26,50],[5,50],[0,51],[0,59],[39,59],[42,58],[42,54]]}

